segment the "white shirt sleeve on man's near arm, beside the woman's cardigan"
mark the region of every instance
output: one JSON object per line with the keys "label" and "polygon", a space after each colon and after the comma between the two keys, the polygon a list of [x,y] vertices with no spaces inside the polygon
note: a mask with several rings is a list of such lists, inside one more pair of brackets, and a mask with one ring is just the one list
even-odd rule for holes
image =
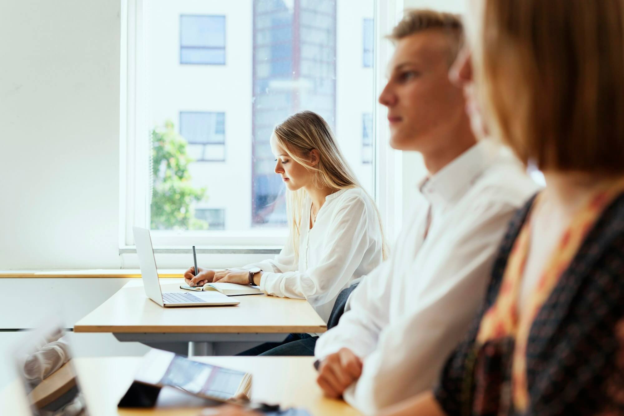
{"label": "white shirt sleeve on man's near arm, beside the woman's cardigan", "polygon": [[409,315],[391,322],[364,360],[362,375],[344,399],[369,414],[431,389],[444,360],[469,329],[485,296],[492,263],[515,208],[502,202],[475,206],[445,239],[420,274],[422,295]]}

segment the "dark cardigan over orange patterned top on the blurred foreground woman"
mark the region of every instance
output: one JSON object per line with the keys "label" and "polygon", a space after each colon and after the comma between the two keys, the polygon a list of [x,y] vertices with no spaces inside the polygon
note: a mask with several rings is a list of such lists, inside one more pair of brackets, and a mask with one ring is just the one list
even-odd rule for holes
{"label": "dark cardigan over orange patterned top on the blurred foreground woman", "polygon": [[512,220],[487,297],[446,362],[449,415],[624,414],[624,184],[578,212],[519,314],[530,217]]}

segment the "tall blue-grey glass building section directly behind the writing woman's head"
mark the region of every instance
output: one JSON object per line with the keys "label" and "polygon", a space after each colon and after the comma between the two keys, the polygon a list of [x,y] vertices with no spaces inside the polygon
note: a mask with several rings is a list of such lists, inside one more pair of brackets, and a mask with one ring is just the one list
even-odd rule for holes
{"label": "tall blue-grey glass building section directly behind the writing woman's head", "polygon": [[269,139],[276,123],[302,109],[335,130],[336,0],[253,5],[251,224],[283,227],[285,186],[273,171]]}

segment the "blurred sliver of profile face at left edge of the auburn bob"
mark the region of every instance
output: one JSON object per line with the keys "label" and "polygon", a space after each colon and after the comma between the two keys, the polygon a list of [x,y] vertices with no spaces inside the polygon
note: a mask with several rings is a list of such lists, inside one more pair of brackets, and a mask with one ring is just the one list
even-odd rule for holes
{"label": "blurred sliver of profile face at left edge of the auburn bob", "polygon": [[482,139],[489,136],[489,129],[485,122],[484,106],[480,102],[480,97],[482,97],[480,86],[478,82],[475,82],[472,65],[481,50],[480,39],[482,36],[480,33],[482,32],[482,14],[485,0],[466,1],[468,3],[464,19],[466,42],[457,55],[449,76],[454,84],[464,90],[466,113],[470,118],[470,127],[472,127],[475,136]]}

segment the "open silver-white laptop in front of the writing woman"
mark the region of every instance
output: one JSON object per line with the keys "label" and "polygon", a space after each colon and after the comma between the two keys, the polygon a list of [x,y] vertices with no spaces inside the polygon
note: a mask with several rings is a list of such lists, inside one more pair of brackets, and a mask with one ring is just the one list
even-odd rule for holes
{"label": "open silver-white laptop in front of the writing woman", "polygon": [[238,305],[238,300],[232,300],[219,292],[165,292],[160,290],[156,259],[152,248],[150,231],[140,227],[132,227],[134,241],[139,255],[139,267],[143,278],[145,294],[158,305],[165,308],[180,306],[221,306]]}

